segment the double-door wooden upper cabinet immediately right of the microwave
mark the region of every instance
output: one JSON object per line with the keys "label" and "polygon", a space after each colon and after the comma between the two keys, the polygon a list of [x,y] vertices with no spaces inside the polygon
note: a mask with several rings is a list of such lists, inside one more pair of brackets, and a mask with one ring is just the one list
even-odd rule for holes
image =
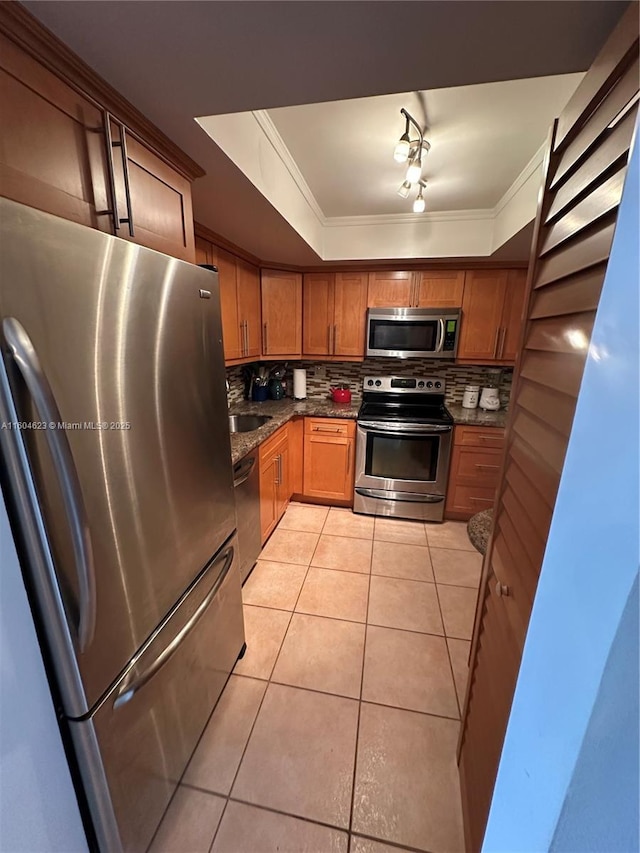
{"label": "double-door wooden upper cabinet immediately right of the microwave", "polygon": [[526,270],[470,270],[462,300],[458,360],[515,361],[524,308]]}

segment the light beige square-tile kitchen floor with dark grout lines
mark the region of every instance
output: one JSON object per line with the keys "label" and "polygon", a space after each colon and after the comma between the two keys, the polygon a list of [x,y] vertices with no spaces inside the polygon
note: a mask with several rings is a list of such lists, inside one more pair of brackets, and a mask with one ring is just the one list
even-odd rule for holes
{"label": "light beige square-tile kitchen floor with dark grout lines", "polygon": [[247,652],[152,853],[462,853],[481,566],[463,523],[291,504],[243,588]]}

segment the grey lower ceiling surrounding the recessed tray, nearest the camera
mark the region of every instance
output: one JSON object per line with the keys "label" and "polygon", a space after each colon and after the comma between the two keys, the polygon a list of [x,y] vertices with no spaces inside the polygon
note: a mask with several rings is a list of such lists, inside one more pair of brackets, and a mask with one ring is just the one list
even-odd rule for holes
{"label": "grey lower ceiling surrounding the recessed tray, nearest the camera", "polygon": [[[585,71],[628,2],[24,5],[205,169],[198,221],[266,261],[306,265],[318,254],[194,116]],[[524,257],[510,243],[505,260]]]}

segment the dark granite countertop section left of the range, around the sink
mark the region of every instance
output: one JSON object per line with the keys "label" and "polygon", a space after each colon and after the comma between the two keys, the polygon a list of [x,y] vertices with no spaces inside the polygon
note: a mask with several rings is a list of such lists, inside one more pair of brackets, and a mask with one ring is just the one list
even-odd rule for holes
{"label": "dark granite countertop section left of the range, around the sink", "polygon": [[236,432],[231,435],[231,461],[235,465],[243,456],[254,450],[270,435],[291,418],[348,418],[358,416],[361,400],[353,398],[351,403],[333,403],[331,400],[309,398],[306,400],[265,400],[264,403],[252,403],[243,400],[232,403],[230,415],[269,415],[271,420],[251,432]]}

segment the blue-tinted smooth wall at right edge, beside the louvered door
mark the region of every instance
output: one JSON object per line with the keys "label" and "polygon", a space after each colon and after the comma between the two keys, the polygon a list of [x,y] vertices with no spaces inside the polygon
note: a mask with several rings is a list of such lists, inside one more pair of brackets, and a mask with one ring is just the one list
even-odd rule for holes
{"label": "blue-tinted smooth wall at right edge, beside the louvered door", "polygon": [[531,615],[483,850],[638,840],[638,147]]}

